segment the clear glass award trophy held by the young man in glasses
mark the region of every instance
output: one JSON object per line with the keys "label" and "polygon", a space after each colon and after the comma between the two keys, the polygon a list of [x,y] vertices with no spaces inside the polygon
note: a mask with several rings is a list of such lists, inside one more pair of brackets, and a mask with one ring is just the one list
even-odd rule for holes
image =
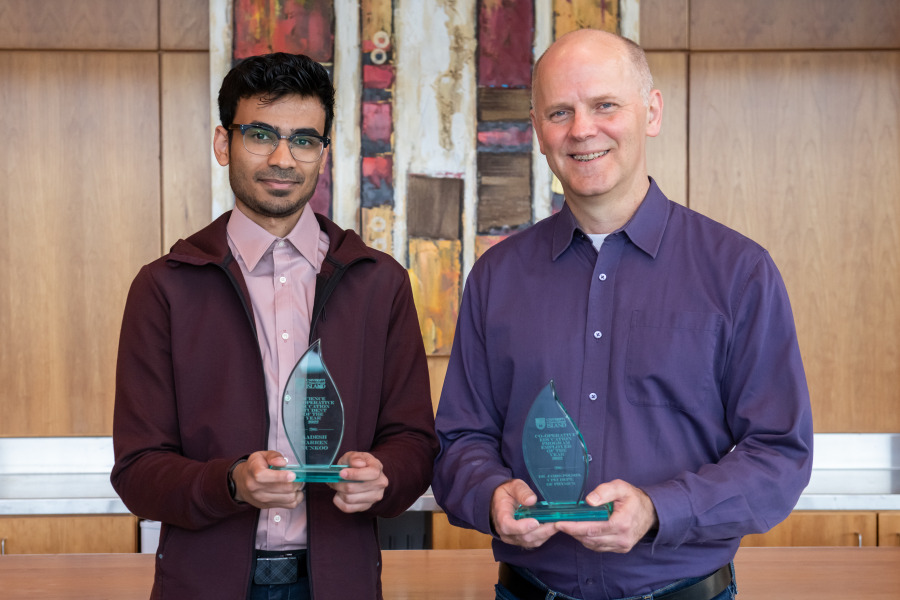
{"label": "clear glass award trophy held by the young man in glasses", "polygon": [[270,468],[292,471],[295,481],[348,481],[340,477],[347,465],[332,464],[344,437],[344,405],[322,360],[321,340],[313,342],[291,371],[281,416],[299,464]]}

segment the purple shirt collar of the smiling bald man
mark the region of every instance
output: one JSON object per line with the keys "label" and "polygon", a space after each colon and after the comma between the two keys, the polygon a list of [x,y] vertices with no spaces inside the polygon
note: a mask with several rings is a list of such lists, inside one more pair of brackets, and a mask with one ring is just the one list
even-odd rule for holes
{"label": "purple shirt collar of the smiling bald man", "polygon": [[[638,209],[624,227],[613,233],[624,231],[635,246],[650,257],[656,258],[668,219],[669,200],[660,191],[656,181],[650,177],[650,189],[647,190],[647,195],[644,196]],[[565,252],[572,243],[575,232],[580,230],[581,227],[575,220],[575,215],[572,214],[569,205],[563,204],[553,230],[552,260],[556,260]]]}

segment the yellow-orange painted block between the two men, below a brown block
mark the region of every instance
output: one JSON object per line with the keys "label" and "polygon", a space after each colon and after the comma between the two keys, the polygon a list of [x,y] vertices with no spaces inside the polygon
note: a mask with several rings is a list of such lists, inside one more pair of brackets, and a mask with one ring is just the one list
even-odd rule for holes
{"label": "yellow-orange painted block between the two men, below a brown block", "polygon": [[449,354],[460,301],[459,240],[409,238],[409,277],[428,354]]}

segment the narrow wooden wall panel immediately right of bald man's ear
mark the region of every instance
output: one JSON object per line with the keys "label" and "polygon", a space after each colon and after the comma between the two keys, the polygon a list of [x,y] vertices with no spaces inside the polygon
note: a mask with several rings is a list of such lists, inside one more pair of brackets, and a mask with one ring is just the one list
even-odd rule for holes
{"label": "narrow wooden wall panel immediately right of bald man's ear", "polygon": [[647,139],[647,172],[675,202],[687,203],[687,54],[648,52],[653,85],[663,95],[662,130]]}

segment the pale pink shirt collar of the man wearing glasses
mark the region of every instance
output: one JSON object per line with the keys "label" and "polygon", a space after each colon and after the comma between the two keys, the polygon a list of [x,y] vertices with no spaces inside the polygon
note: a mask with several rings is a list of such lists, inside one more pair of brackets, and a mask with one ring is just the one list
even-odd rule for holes
{"label": "pale pink shirt collar of the man wearing glasses", "polygon": [[[228,220],[228,237],[231,238],[235,249],[251,272],[279,239],[254,223],[238,208],[231,211],[231,218]],[[309,205],[304,207],[297,224],[283,239],[290,242],[316,270],[321,268],[321,260],[317,251],[319,224]]]}

